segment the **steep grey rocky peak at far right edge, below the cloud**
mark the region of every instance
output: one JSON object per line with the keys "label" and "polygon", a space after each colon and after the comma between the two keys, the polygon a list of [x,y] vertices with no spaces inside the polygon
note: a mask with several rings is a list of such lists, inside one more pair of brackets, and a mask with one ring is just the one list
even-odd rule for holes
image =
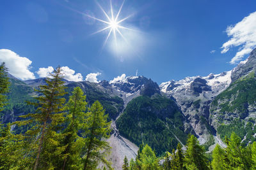
{"label": "steep grey rocky peak at far right edge, below the cloud", "polygon": [[250,53],[248,59],[240,62],[238,66],[236,66],[232,70],[231,80],[232,82],[238,80],[242,76],[250,73],[252,70],[256,69],[256,48]]}

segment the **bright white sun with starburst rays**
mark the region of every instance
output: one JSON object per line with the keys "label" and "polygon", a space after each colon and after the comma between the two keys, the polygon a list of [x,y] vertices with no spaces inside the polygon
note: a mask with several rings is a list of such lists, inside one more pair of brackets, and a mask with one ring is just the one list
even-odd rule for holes
{"label": "bright white sun with starburst rays", "polygon": [[106,31],[106,30],[109,31],[108,36],[106,37],[106,39],[104,41],[103,47],[106,45],[106,43],[109,39],[109,36],[111,36],[111,34],[113,35],[113,38],[115,40],[115,44],[117,44],[116,36],[120,36],[122,39],[124,39],[125,42],[127,42],[127,39],[124,37],[124,34],[122,34],[122,30],[124,30],[124,29],[129,30],[129,31],[136,31],[136,30],[121,25],[122,22],[124,22],[125,20],[130,18],[132,15],[129,15],[128,17],[125,17],[125,18],[122,18],[122,19],[118,18],[120,16],[120,13],[121,13],[122,8],[124,6],[124,1],[122,2],[121,6],[118,10],[118,13],[116,13],[116,15],[115,15],[113,13],[112,1],[110,0],[110,11],[109,11],[109,13],[111,13],[110,16],[106,13],[106,11],[102,8],[102,6],[100,6],[99,3],[97,3],[97,4],[98,4],[100,10],[104,13],[106,19],[100,19],[100,18],[97,18],[97,17],[92,17],[91,15],[87,15],[87,14],[84,14],[84,15],[86,15],[89,18],[93,18],[94,20],[97,20],[99,22],[102,22],[102,23],[106,24],[106,27],[100,29],[99,31],[93,32],[93,34],[97,34],[97,33],[102,32],[102,31]]}

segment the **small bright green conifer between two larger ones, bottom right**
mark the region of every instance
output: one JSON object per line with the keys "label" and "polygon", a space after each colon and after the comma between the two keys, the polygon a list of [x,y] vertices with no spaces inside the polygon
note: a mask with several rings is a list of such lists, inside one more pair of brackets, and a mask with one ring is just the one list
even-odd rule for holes
{"label": "small bright green conifer between two larger ones, bottom right", "polygon": [[225,168],[225,151],[220,147],[220,145],[216,145],[212,152],[212,168],[215,170],[223,170]]}

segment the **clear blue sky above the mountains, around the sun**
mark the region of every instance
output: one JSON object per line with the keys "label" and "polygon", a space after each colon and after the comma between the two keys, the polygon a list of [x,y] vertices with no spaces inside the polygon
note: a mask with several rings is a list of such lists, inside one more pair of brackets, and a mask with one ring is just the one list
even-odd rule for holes
{"label": "clear blue sky above the mountains, around the sun", "polygon": [[[256,46],[255,42],[249,45],[248,37],[248,40],[237,44],[239,38],[252,33],[255,35],[252,24],[247,24],[249,29],[242,30],[244,34],[235,37],[236,43],[229,41],[234,38],[234,32],[239,32],[238,29],[247,23],[244,20],[236,27],[244,17],[251,16],[248,22],[254,20],[254,15],[250,15],[256,11],[254,0],[126,0],[118,18],[133,14],[121,24],[136,31],[120,29],[127,41],[118,40],[117,51],[113,47],[113,34],[102,48],[108,30],[92,34],[106,24],[83,15],[107,20],[97,2],[110,15],[108,0],[2,0],[0,49],[10,51],[3,52],[0,61],[14,63],[11,59],[15,54],[26,57],[31,63],[26,60],[25,69],[29,69],[36,78],[42,76],[36,73],[40,68],[68,66],[67,70],[76,71],[70,74],[81,73],[77,76],[83,76],[83,80],[90,73],[99,73],[99,80],[112,80],[123,73],[134,76],[138,69],[138,75],[161,83],[228,71],[248,56],[246,50]],[[122,2],[112,0],[114,14]],[[230,25],[228,36],[227,27]],[[226,42],[227,46],[223,46]],[[244,58],[237,56],[238,60],[236,58],[236,62],[230,64],[239,51]],[[18,65],[20,63],[17,62]],[[10,67],[15,69],[19,66],[13,64]],[[19,70],[15,71],[13,73],[18,75]],[[28,70],[24,71],[26,73]],[[28,78],[23,77],[24,80]]]}

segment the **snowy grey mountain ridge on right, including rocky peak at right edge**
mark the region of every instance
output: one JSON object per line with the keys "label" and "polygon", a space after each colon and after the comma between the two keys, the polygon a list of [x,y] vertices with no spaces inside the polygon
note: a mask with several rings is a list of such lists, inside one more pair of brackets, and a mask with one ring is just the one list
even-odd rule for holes
{"label": "snowy grey mountain ridge on right, including rocky peak at right edge", "polygon": [[[240,62],[231,71],[208,76],[186,77],[183,80],[170,80],[159,85],[161,92],[173,97],[182,113],[188,118],[200,143],[207,142],[209,134],[216,133],[216,127],[211,127],[210,105],[216,96],[226,90],[232,83],[248,76],[256,69],[256,49],[250,56]],[[216,141],[220,141],[216,139]]]}

